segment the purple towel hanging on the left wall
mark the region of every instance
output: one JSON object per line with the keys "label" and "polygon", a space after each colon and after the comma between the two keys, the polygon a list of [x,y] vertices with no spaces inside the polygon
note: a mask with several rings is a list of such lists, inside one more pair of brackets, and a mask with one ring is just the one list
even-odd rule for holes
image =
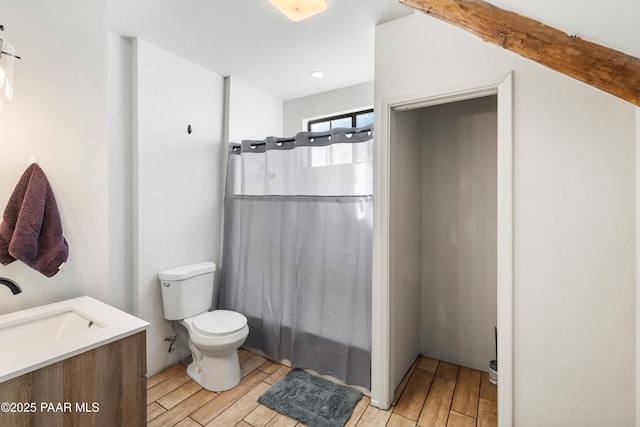
{"label": "purple towel hanging on the left wall", "polygon": [[47,277],[67,260],[69,246],[49,181],[38,164],[22,174],[0,224],[0,263],[16,259]]}

